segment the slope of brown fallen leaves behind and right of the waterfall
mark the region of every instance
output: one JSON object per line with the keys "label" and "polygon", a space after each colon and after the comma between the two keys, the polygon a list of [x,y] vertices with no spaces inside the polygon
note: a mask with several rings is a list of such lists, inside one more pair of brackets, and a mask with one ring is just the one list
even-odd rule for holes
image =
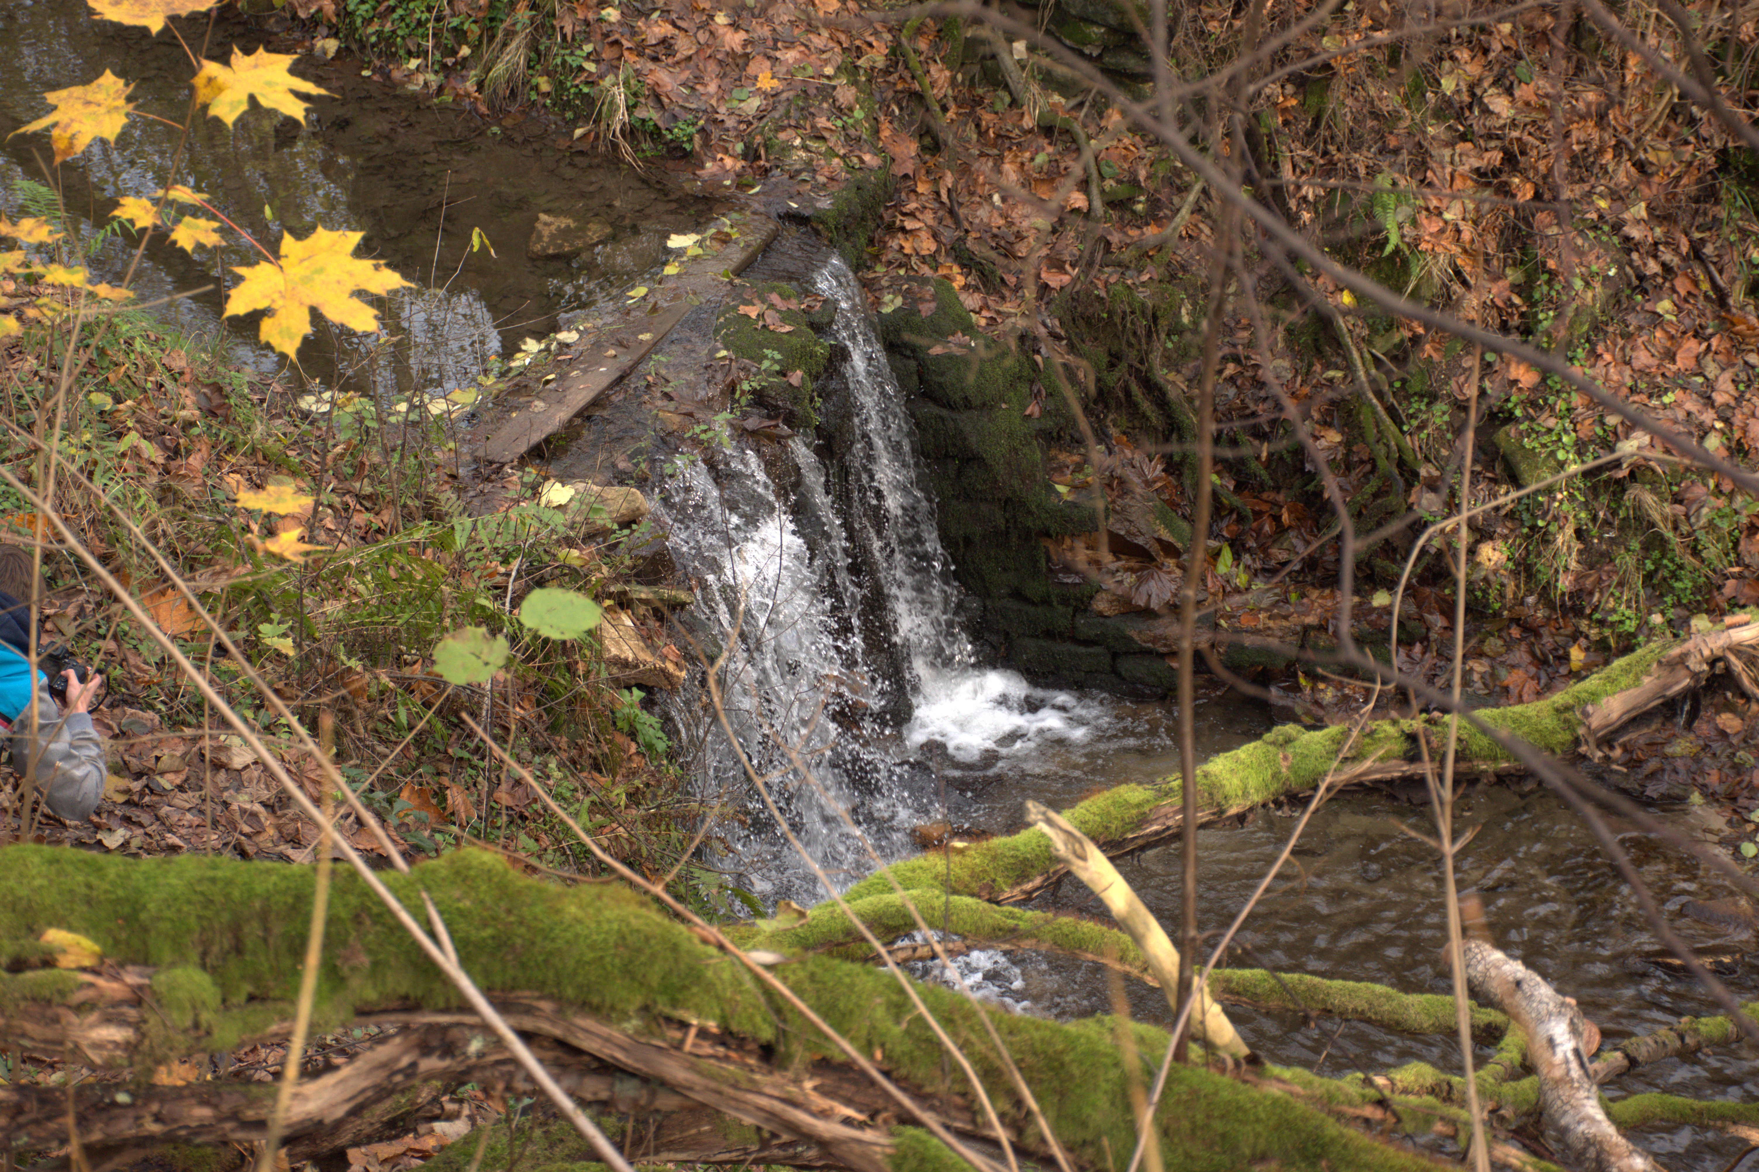
{"label": "slope of brown fallen leaves behind and right of the waterfall", "polygon": [[[318,0],[297,7],[324,19]],[[1277,12],[1272,25],[1296,19]],[[352,32],[371,40],[390,19]],[[1284,176],[1281,202],[1291,225],[1325,239],[1337,258],[1471,323],[1562,353],[1622,402],[1754,467],[1759,316],[1748,286],[1759,216],[1750,153],[1720,121],[1678,100],[1641,54],[1557,19],[1529,11],[1453,28],[1393,72],[1370,51],[1402,21],[1383,5],[1351,7],[1281,42],[1263,70],[1275,79],[1252,97]],[[1655,25],[1653,44],[1682,60],[1683,44]],[[320,25],[313,35],[329,32]],[[1726,32],[1734,44],[1755,37],[1750,25]],[[908,65],[906,37],[922,81]],[[1242,51],[1237,37],[1226,5],[1200,5],[1173,56],[1200,76]],[[1045,128],[976,44],[955,21],[874,23],[855,0],[748,7],[737,18],[700,0],[603,7],[561,19],[547,49],[551,93],[533,90],[508,118],[545,119],[559,149],[630,149],[644,165],[737,188],[792,183],[821,193],[887,169],[897,190],[864,274],[874,306],[909,297],[920,278],[943,278],[980,330],[1024,344],[1036,337],[1045,348],[1073,348],[1057,316],[1071,285],[1152,300],[1203,274],[1219,204],[1191,199],[1191,174],[1166,144],[1091,93],[1036,90],[1033,100],[1080,123],[1084,135]],[[434,53],[383,72],[500,116],[503,105],[491,109],[478,90],[477,65]],[[600,100],[607,86],[624,97],[616,116]],[[508,93],[524,97],[503,90],[496,100]],[[565,118],[568,100],[588,114]],[[1098,206],[1082,137],[1098,165]],[[1423,524],[1458,506],[1474,395],[1472,504],[1513,494],[1527,469],[1629,452],[1474,522],[1465,689],[1479,701],[1536,699],[1624,648],[1704,629],[1727,608],[1759,601],[1759,511],[1727,476],[1682,464],[1666,443],[1525,362],[1495,353],[1462,360],[1474,355],[1460,355],[1444,334],[1363,307],[1323,278],[1317,292],[1381,369],[1414,460],[1402,504]],[[1266,336],[1247,306],[1224,306],[1221,425],[1242,446],[1268,452],[1282,439],[1281,388],[1342,490],[1369,490],[1377,453],[1347,418],[1353,383],[1342,351],[1314,343],[1300,315],[1277,325]],[[1189,348],[1164,376],[1196,385]],[[1128,411],[1094,415],[1103,452],[1054,452],[1052,481],[1075,492],[1098,480],[1113,501],[1149,494],[1187,515],[1180,478],[1168,474],[1177,453],[1133,429]],[[1513,434],[1499,436],[1509,425]],[[1205,585],[1221,626],[1275,627],[1291,615],[1310,622],[1337,606],[1328,590],[1337,546],[1323,541],[1330,511],[1312,469],[1293,471],[1300,474],[1265,483],[1221,467],[1221,485],[1242,506],[1221,511],[1210,534]],[[1177,573],[1177,550],[1147,545],[1112,543],[1105,569],[1135,594],[1124,608],[1163,603],[1168,592],[1156,585]],[[1096,559],[1092,548],[1075,553]],[[1400,652],[1400,668],[1444,687],[1453,587],[1441,562],[1420,559],[1405,590],[1402,617],[1414,615],[1423,638]],[[1365,566],[1356,604],[1384,606],[1397,569]],[[1266,599],[1265,582],[1279,583],[1275,597]],[[1325,675],[1279,687],[1321,715],[1363,699],[1363,689]],[[1692,717],[1694,754],[1710,756],[1682,756],[1680,745],[1643,754],[1652,773],[1671,778],[1657,791],[1690,784],[1731,815],[1752,812],[1759,770],[1743,743],[1759,729],[1759,710],[1729,698]],[[1715,750],[1727,750],[1726,759]]]}

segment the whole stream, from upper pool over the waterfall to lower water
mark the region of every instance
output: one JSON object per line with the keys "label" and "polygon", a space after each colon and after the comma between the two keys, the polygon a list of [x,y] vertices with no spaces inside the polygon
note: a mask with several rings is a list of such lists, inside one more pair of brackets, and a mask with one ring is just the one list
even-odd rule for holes
{"label": "whole stream, from upper pool over the waterfall to lower water", "polygon": [[[253,28],[237,18],[222,21],[218,42],[264,44]],[[278,47],[273,39],[267,44]],[[192,70],[169,35],[93,21],[76,0],[0,7],[0,139],[44,112],[42,91],[83,84],[118,61],[118,72],[137,83],[139,105],[167,116],[185,109]],[[304,127],[257,112],[236,130],[204,119],[192,170],[181,179],[260,239],[281,230],[304,235],[311,227],[361,230],[361,255],[385,260],[415,283],[382,304],[394,343],[347,334],[331,341],[318,330],[301,351],[318,383],[380,404],[473,385],[524,337],[549,334],[561,315],[603,304],[654,272],[665,235],[693,230],[716,211],[596,156],[558,151],[551,137],[526,127],[489,125],[362,81],[354,65],[306,60],[299,72],[339,97],[313,98]],[[32,151],[46,141],[4,142],[0,209],[16,218],[26,211],[19,181],[40,181]],[[137,118],[118,144],[99,142],[62,167],[67,207],[100,278],[120,274],[132,250],[81,223],[81,211],[107,207],[113,197],[150,195],[172,149],[174,132]],[[605,223],[603,239],[572,262],[529,260],[524,241],[542,213],[591,213]],[[470,251],[473,228],[487,234],[496,258]],[[1027,798],[1068,807],[1103,787],[1177,773],[1171,703],[1038,689],[973,648],[964,634],[971,601],[953,585],[941,553],[936,503],[918,488],[902,397],[855,279],[809,241],[785,235],[770,253],[756,262],[755,279],[790,279],[841,307],[821,425],[762,452],[734,443],[681,462],[660,485],[640,487],[654,501],[681,575],[702,587],[688,619],[693,634],[728,650],[721,687],[739,745],[772,775],[779,812],[825,879],[846,887],[871,872],[869,849],[881,857],[908,854],[911,829],[923,822],[945,817],[962,831],[1006,833],[1018,828]],[[142,300],[155,300],[223,286],[232,264],[246,264],[243,246],[192,258],[158,244],[148,250],[135,288]],[[255,343],[253,327],[222,322],[218,306],[220,293],[209,292],[171,300],[158,313],[179,330],[222,337],[239,365],[280,369]],[[674,357],[693,353],[690,346],[700,351],[704,320],[686,320],[677,334],[668,343]],[[595,408],[584,429],[610,427],[617,409],[614,402],[603,413]],[[621,409],[633,411],[628,402]],[[582,459],[570,450],[559,464]],[[718,866],[737,872],[767,903],[785,896],[816,903],[823,882],[772,829],[732,743],[705,712],[700,692],[672,703],[679,742],[695,745],[698,784],[748,815],[742,826],[723,828],[734,850]],[[1258,738],[1272,717],[1256,701],[1207,687],[1194,722],[1201,759]],[[1298,805],[1268,808],[1244,824],[1198,833],[1207,933],[1226,928],[1298,814]],[[1696,833],[1690,810],[1664,814]],[[1485,894],[1504,947],[1578,998],[1608,1040],[1685,1014],[1719,1012],[1689,979],[1653,963],[1664,952],[1634,898],[1587,829],[1543,787],[1467,785],[1458,817],[1462,826],[1481,828],[1460,857],[1462,887]],[[1400,824],[1428,829],[1420,791],[1333,798],[1228,963],[1448,993],[1435,859]],[[1696,861],[1632,828],[1617,829],[1666,910],[1733,894]],[[1703,828],[1706,838],[1712,831]],[[1143,850],[1120,868],[1150,908],[1175,924],[1179,849]],[[1041,896],[1040,907],[1103,915],[1075,884]],[[1717,944],[1708,926],[1682,915],[1675,926],[1696,945]],[[1727,977],[1743,998],[1759,995],[1750,949],[1750,938],[1734,942],[1740,959]],[[1020,1012],[1110,1012],[1108,982],[1091,965],[1018,952],[974,952],[960,965],[983,996]],[[1159,991],[1135,988],[1129,1002],[1135,1016],[1170,1024]],[[1326,1019],[1310,1028],[1298,1014],[1230,1014],[1274,1063],[1332,1075],[1420,1060],[1456,1067],[1449,1045],[1434,1038],[1354,1023],[1339,1030]],[[1608,1088],[1613,1098],[1652,1089],[1752,1102],[1759,1070],[1738,1054],[1701,1054],[1657,1063]],[[1659,1128],[1636,1139],[1669,1168],[1722,1168],[1745,1147],[1701,1128]]]}

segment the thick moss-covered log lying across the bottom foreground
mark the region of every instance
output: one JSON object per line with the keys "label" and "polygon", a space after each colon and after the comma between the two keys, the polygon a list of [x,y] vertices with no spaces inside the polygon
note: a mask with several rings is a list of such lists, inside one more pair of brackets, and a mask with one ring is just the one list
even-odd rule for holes
{"label": "thick moss-covered log lying across the bottom foreground", "polygon": [[[674,1103],[665,1095],[679,1095],[734,1126],[721,1156],[702,1144],[679,1158],[751,1158],[749,1128],[786,1140],[777,1147],[781,1154],[765,1147],[762,1161],[786,1158],[878,1172],[952,1158],[938,1144],[899,1132],[911,1119],[841,1063],[827,1038],[744,966],[635,893],[603,884],[558,887],[470,850],[417,866],[408,877],[387,875],[385,882],[417,914],[419,893],[433,896],[464,968],[484,989],[501,991],[496,1002],[515,1028],[552,1040],[551,1056],[568,1047],[565,1065],[582,1095],[595,1086],[614,1091],[616,1079],[644,1079],[656,1088],[649,1114],[665,1114]],[[0,850],[0,944],[14,966],[42,963],[37,938],[47,928],[84,935],[106,956],[100,972],[28,968],[0,975],[9,1045],[62,1049],[90,1065],[132,1065],[144,1074],[178,1053],[225,1049],[276,1033],[285,1028],[299,982],[311,887],[310,868],[273,863],[123,859],[30,845]],[[334,947],[317,982],[320,1028],[392,1014],[392,1021],[422,1028],[399,1042],[408,1051],[394,1065],[408,1070],[408,1079],[498,1077],[498,1070],[471,1067],[496,1061],[487,1031],[473,1035],[480,1045],[447,1033],[473,1030],[457,991],[354,875],[334,882],[327,938]],[[892,977],[804,949],[777,951],[788,956],[776,965],[777,977],[871,1054],[920,1111],[957,1133],[994,1139],[969,1105],[971,1088],[957,1067],[943,1063],[931,1030]],[[920,993],[971,1056],[1010,1140],[1027,1154],[1043,1158],[1047,1146],[990,1047],[980,1012],[992,1014],[1080,1167],[1101,1168],[1106,1153],[1129,1151],[1128,1079],[1112,1023],[1017,1017],[976,1009],[941,989]],[[1135,1030],[1145,1061],[1157,1061],[1166,1035]],[[392,1042],[401,1037],[392,1035]],[[1075,1070],[1080,1077],[1069,1077]],[[396,1079],[387,1074],[380,1082]],[[190,1105],[199,1118],[185,1118],[188,1130],[172,1128],[174,1137],[213,1135],[232,1112],[232,1135],[248,1139],[250,1121],[260,1119],[262,1091],[220,1086],[225,1089],[93,1082],[76,1088],[74,1111],[81,1132],[102,1135],[107,1144],[167,1133],[146,1123],[162,1116],[141,1111],[142,1103],[167,1111]],[[336,1086],[315,1081],[311,1093],[324,1096]],[[1300,1072],[1254,1068],[1228,1075],[1179,1068],[1168,1102],[1179,1103],[1161,1116],[1170,1168],[1265,1160],[1288,1168],[1430,1167],[1330,1114],[1381,1114],[1386,1107],[1377,1091]],[[301,1123],[320,1126],[317,1114]],[[1407,1123],[1427,1126],[1428,1116]],[[65,1089],[44,1098],[35,1088],[0,1088],[0,1128],[14,1147],[62,1142]]]}

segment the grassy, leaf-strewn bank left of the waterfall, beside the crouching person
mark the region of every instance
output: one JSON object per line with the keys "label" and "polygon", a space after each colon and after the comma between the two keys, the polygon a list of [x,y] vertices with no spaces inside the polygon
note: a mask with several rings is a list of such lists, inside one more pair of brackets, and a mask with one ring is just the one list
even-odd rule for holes
{"label": "grassy, leaf-strewn bank left of the waterfall, beside the crouching person", "polygon": [[[37,441],[60,423],[56,513],[308,792],[322,789],[322,773],[248,673],[306,727],[331,729],[343,778],[408,857],[480,842],[521,866],[593,870],[529,787],[461,736],[468,713],[515,761],[545,768],[558,799],[612,854],[658,873],[679,866],[702,807],[640,706],[644,691],[677,676],[644,647],[656,611],[628,596],[619,539],[646,513],[639,494],[619,496],[612,511],[591,485],[544,485],[519,471],[470,478],[443,420],[313,413],[301,388],[237,371],[215,339],[171,334],[139,313],[88,318],[77,336],[70,327],[26,330],[0,350],[12,423],[4,462],[40,490]],[[81,360],[58,404],[62,355],[76,337]],[[19,490],[0,488],[0,539],[32,541],[37,511]],[[308,859],[317,826],[91,571],[46,536],[46,638],[106,673],[93,720],[111,743],[111,780],[91,822],[14,821],[11,833],[120,854]],[[216,648],[165,566],[248,662]],[[607,634],[519,638],[507,611],[515,580],[521,596],[554,583],[605,599]],[[507,666],[482,684],[447,682],[434,662],[440,636],[480,622],[514,634]],[[16,819],[14,785],[5,805]],[[338,831],[383,854],[354,815]],[[686,868],[679,893],[719,907],[704,875]]]}

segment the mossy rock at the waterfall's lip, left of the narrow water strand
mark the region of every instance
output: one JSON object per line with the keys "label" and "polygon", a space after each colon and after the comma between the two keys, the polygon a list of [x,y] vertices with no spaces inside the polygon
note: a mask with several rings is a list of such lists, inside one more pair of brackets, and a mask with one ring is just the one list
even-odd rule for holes
{"label": "mossy rock at the waterfall's lip, left of the narrow water strand", "polygon": [[[802,300],[792,285],[781,281],[734,283],[714,318],[714,337],[728,353],[760,367],[760,374],[741,387],[742,394],[779,411],[793,427],[813,427],[818,423],[813,380],[830,362],[830,346],[816,330],[830,325],[836,306],[820,300],[813,309],[788,309],[777,307],[772,297],[785,306],[800,306]],[[758,307],[756,316],[741,313],[753,306]]]}

